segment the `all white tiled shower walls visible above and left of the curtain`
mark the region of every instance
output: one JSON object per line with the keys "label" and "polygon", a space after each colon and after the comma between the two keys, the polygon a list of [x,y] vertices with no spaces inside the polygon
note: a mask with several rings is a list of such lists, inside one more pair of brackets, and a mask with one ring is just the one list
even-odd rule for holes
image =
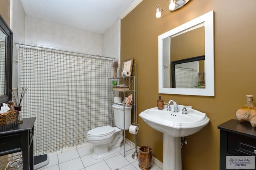
{"label": "all white tiled shower walls visible above and left of the curtain", "polygon": [[[61,23],[25,15],[20,0],[11,0],[10,27],[14,41],[114,57],[120,61],[120,19],[105,33],[97,34]],[[13,50],[12,87],[18,87],[17,49]]]}

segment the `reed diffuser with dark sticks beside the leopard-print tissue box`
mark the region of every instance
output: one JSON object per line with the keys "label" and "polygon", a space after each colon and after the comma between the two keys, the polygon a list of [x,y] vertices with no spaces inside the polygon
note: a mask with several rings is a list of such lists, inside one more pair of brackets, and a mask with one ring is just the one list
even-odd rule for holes
{"label": "reed diffuser with dark sticks beside the leopard-print tissue box", "polygon": [[23,122],[23,119],[22,119],[22,115],[21,115],[21,101],[24,97],[24,95],[26,94],[28,88],[22,88],[21,89],[21,94],[20,94],[20,99],[19,99],[19,90],[17,92],[17,98],[15,97],[15,94],[13,92],[12,89],[9,89],[11,94],[12,94],[12,100],[14,102],[14,109],[18,111],[18,123],[22,123]]}

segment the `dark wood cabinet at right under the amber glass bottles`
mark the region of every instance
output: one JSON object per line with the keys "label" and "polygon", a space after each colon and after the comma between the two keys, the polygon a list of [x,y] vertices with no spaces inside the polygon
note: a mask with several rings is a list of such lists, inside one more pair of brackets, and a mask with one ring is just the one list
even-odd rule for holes
{"label": "dark wood cabinet at right under the amber glass bottles", "polygon": [[231,119],[218,125],[218,129],[220,170],[226,170],[226,156],[256,156],[256,128],[250,123]]}

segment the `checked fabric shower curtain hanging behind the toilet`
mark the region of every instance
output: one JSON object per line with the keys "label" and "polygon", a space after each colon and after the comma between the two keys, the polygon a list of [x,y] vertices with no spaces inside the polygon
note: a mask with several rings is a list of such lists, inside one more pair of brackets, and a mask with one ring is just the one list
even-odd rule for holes
{"label": "checked fabric shower curtain hanging behind the toilet", "polygon": [[18,54],[19,89],[28,88],[22,116],[36,117],[35,155],[87,143],[87,131],[114,125],[113,60],[31,47],[18,47]]}

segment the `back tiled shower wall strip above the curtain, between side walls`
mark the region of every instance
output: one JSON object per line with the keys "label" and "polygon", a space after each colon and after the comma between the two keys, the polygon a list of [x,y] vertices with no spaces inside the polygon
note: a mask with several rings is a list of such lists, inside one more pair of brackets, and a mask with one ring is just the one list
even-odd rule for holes
{"label": "back tiled shower wall strip above the curtain, between side walls", "polygon": [[102,35],[26,15],[25,43],[102,55]]}

